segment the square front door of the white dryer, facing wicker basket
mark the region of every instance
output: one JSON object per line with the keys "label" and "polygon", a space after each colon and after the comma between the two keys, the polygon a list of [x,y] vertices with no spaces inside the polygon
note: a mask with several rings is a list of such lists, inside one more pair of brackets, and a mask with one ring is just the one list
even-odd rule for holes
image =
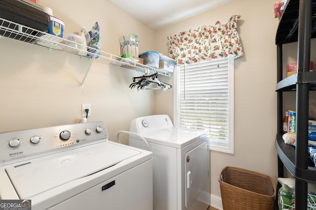
{"label": "square front door of the white dryer, facing wicker basket", "polygon": [[186,169],[186,208],[196,200],[199,193],[208,183],[208,142],[200,144],[185,156]]}

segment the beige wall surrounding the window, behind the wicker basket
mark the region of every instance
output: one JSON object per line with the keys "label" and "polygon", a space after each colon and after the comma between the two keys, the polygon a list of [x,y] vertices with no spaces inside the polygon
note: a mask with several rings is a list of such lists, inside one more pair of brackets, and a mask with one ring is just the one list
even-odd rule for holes
{"label": "beige wall surrounding the window, behind the wicker basket", "polygon": [[[211,194],[220,196],[219,175],[235,166],[277,177],[275,0],[234,0],[158,30],[157,50],[167,54],[167,36],[202,25],[225,24],[241,15],[238,33],[244,56],[235,60],[235,154],[211,151]],[[165,106],[168,104],[168,106]],[[159,92],[156,112],[172,116],[173,94]]]}

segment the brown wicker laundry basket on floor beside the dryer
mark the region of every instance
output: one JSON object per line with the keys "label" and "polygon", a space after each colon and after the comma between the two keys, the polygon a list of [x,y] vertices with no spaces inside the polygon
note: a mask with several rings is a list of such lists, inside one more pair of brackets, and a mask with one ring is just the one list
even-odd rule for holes
{"label": "brown wicker laundry basket on floor beside the dryer", "polygon": [[223,210],[274,210],[276,185],[267,175],[225,167],[219,178]]}

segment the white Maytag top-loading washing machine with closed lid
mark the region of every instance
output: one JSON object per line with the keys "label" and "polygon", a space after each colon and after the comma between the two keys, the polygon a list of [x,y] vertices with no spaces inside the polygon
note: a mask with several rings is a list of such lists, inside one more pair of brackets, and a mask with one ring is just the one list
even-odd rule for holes
{"label": "white Maytag top-loading washing machine with closed lid", "polygon": [[0,200],[32,210],[152,210],[152,168],[103,122],[0,133]]}

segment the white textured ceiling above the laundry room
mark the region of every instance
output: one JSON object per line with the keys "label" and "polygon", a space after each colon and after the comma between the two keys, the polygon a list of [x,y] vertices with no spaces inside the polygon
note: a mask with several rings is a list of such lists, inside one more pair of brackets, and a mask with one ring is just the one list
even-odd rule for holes
{"label": "white textured ceiling above the laundry room", "polygon": [[232,0],[109,0],[153,30]]}

